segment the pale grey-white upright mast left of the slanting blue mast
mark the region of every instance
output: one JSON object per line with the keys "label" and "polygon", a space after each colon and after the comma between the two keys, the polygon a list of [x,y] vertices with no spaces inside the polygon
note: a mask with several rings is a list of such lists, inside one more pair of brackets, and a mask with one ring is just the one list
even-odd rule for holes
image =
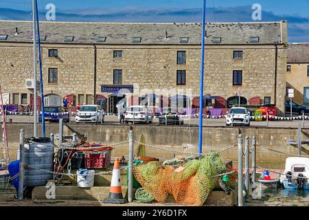
{"label": "pale grey-white upright mast left of the slanting blue mast", "polygon": [[36,85],[36,0],[32,0],[32,20],[33,20],[33,65],[34,65],[34,137],[37,137],[37,124],[38,124],[38,96],[37,96],[37,85]]}

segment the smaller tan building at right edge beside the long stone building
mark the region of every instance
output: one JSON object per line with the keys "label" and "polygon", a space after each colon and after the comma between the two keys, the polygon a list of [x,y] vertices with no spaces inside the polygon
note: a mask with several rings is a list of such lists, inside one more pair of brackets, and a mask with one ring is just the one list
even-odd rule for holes
{"label": "smaller tan building at right edge beside the long stone building", "polygon": [[286,94],[288,89],[294,89],[293,100],[309,104],[309,43],[289,44],[287,56]]}

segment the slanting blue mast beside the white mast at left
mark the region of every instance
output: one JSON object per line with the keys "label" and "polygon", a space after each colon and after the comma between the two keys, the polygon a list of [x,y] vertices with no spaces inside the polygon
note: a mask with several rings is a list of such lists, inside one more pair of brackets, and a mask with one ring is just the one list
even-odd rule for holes
{"label": "slanting blue mast beside the white mast at left", "polygon": [[[36,1],[36,0],[35,0]],[[36,1],[36,25],[38,29],[38,63],[40,65],[40,89],[41,89],[41,110],[42,110],[42,136],[45,137],[45,111],[44,111],[44,91],[43,91],[43,73],[41,60],[41,41],[40,41],[40,25],[38,24],[38,3]]]}

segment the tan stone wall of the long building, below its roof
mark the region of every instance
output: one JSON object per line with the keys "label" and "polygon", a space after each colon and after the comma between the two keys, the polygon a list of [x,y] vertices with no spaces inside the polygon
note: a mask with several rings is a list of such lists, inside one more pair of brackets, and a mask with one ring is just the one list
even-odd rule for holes
{"label": "tan stone wall of the long building, below its roof", "polygon": [[[93,45],[43,44],[43,80],[45,94],[92,94],[101,85],[113,84],[113,69],[122,69],[122,84],[142,89],[170,89],[170,94],[198,96],[201,48],[192,45],[98,45],[97,78],[94,77]],[[48,49],[58,49],[58,57],[48,57]],[[122,58],[113,58],[113,50],[122,50]],[[176,53],[186,51],[186,65],[176,65]],[[242,50],[242,59],[233,59],[233,50]],[[32,78],[32,45],[0,44],[3,93],[31,93],[25,79]],[[58,83],[48,82],[48,68],[58,68]],[[186,70],[185,86],[176,85],[176,71]],[[242,70],[241,95],[271,97],[275,103],[274,45],[207,45],[205,51],[205,94],[229,98],[238,91],[233,86],[233,70]],[[279,47],[276,104],[284,112],[286,49]],[[136,88],[135,88],[136,90]],[[144,92],[145,93],[145,92]],[[143,94],[144,94],[143,93]],[[108,94],[104,94],[108,95]],[[140,94],[142,95],[142,94]]]}

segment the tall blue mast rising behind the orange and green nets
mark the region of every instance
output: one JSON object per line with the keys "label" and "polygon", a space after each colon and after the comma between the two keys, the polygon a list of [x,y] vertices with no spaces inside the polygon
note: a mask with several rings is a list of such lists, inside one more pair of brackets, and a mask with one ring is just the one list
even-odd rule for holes
{"label": "tall blue mast rising behind the orange and green nets", "polygon": [[200,90],[200,114],[198,115],[198,155],[202,154],[203,144],[203,93],[204,93],[204,50],[205,50],[205,10],[206,0],[203,0],[202,23],[202,55],[201,55],[201,90]]}

